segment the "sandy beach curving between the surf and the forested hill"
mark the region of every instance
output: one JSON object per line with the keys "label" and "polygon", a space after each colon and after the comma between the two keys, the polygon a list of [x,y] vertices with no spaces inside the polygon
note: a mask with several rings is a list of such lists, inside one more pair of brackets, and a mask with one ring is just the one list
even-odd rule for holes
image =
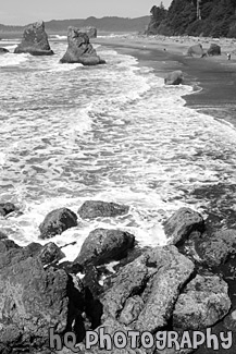
{"label": "sandy beach curving between the surf and the forested hill", "polygon": [[[182,70],[184,84],[194,88],[191,95],[184,96],[186,106],[199,112],[223,119],[236,127],[232,113],[236,110],[236,41],[233,39],[182,38],[182,37],[144,37],[124,36],[96,38],[92,42],[112,47],[120,53],[131,54],[138,60],[138,65],[151,66],[159,77],[169,72]],[[218,57],[190,58],[187,49],[196,42],[202,44],[204,50],[211,42],[222,48]],[[232,60],[227,60],[227,52]]]}

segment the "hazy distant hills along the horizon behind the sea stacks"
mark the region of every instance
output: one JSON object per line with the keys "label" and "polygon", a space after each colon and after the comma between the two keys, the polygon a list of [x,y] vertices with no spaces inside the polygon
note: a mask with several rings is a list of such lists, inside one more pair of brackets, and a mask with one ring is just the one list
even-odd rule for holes
{"label": "hazy distant hills along the horizon behind the sea stacks", "polygon": [[[44,19],[42,19],[44,20]],[[95,26],[98,30],[104,32],[141,32],[149,23],[149,16],[124,19],[124,17],[88,17],[86,20],[52,20],[45,22],[46,30],[65,32],[69,26],[85,27]],[[25,26],[5,26],[0,24],[0,32],[23,32]]]}

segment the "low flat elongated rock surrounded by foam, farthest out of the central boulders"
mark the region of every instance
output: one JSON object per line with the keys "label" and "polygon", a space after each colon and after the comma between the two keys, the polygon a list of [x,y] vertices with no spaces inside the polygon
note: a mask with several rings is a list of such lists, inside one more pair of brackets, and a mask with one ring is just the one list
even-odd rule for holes
{"label": "low flat elongated rock surrounded by foam, farthest out of the central boulders", "polygon": [[128,212],[129,207],[116,203],[86,200],[78,209],[82,219],[114,218]]}

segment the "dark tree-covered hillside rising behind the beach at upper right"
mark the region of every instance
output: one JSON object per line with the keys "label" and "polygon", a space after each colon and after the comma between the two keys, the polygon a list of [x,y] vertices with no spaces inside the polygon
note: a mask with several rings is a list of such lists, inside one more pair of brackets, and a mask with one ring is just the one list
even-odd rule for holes
{"label": "dark tree-covered hillside rising behind the beach at upper right", "polygon": [[173,0],[169,10],[154,5],[148,33],[236,37],[236,1]]}

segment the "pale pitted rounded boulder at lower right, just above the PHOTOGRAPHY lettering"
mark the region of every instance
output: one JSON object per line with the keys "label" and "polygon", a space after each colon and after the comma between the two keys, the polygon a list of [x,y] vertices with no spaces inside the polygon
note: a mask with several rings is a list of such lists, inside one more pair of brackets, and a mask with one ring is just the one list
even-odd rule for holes
{"label": "pale pitted rounded boulder at lower right, just above the PHOTOGRAPHY lettering", "polygon": [[178,296],[173,325],[183,329],[203,329],[221,320],[231,308],[227,283],[218,276],[197,276]]}

